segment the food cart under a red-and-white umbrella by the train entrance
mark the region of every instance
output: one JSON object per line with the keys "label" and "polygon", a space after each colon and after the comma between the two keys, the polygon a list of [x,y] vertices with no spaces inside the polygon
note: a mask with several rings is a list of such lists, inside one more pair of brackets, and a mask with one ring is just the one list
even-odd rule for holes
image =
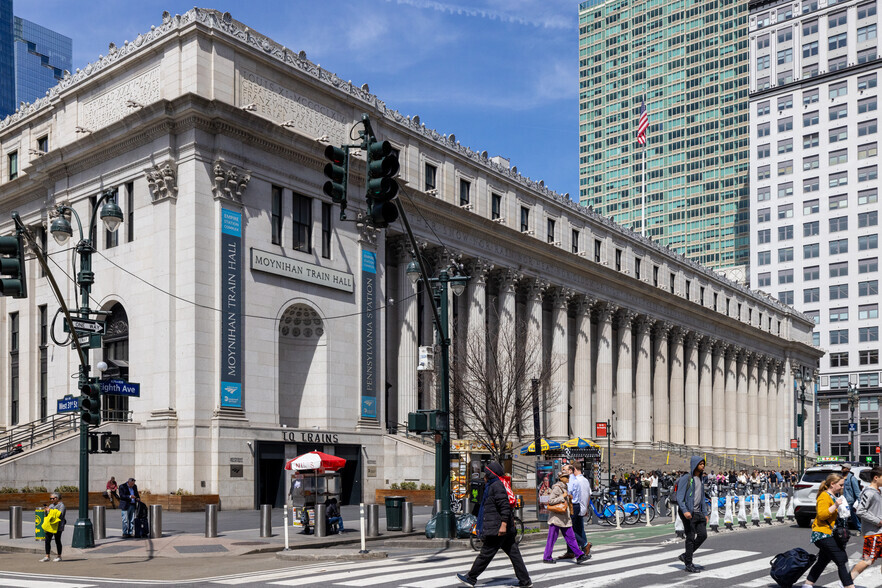
{"label": "food cart under a red-and-white umbrella by the train entrance", "polygon": [[293,509],[292,516],[295,527],[301,527],[303,533],[309,533],[315,525],[315,507],[324,504],[331,498],[340,501],[340,473],[346,465],[342,457],[328,455],[321,451],[304,453],[285,464],[291,470],[291,489],[288,496]]}

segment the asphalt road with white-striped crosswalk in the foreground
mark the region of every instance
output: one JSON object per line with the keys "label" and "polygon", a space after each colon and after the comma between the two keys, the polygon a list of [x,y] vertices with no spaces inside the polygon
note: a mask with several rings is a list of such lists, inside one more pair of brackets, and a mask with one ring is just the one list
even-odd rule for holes
{"label": "asphalt road with white-striped crosswalk in the foreground", "polygon": [[[623,535],[625,536],[625,535]],[[633,534],[627,534],[633,537]],[[556,553],[563,551],[558,543]],[[606,544],[592,550],[593,558],[582,566],[569,561],[541,563],[544,542],[525,542],[524,559],[535,586],[542,588],[772,588],[769,560],[792,547],[816,552],[810,532],[795,525],[712,534],[695,558],[704,567],[687,574],[677,555],[683,543],[670,534]],[[849,545],[856,560],[858,540]],[[101,561],[67,560],[38,563],[32,555],[0,554],[0,585],[20,588],[89,588],[126,585],[147,586],[380,586],[440,588],[459,585],[455,574],[466,571],[475,553],[469,550],[407,550],[387,548],[389,558],[360,562],[316,562],[292,565],[273,555],[235,558],[155,559],[139,561],[113,558]],[[853,563],[852,561],[852,563]],[[479,586],[508,586],[516,581],[511,566],[500,553],[479,579]],[[878,564],[859,578],[858,586],[880,587]],[[837,586],[831,567],[818,586]]]}

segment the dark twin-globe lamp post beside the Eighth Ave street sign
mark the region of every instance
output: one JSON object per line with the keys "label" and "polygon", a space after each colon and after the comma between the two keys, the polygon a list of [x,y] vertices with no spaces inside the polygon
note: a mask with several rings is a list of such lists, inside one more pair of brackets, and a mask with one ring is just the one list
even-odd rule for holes
{"label": "dark twin-globe lamp post beside the Eighth Ave street sign", "polygon": [[[76,245],[76,253],[80,256],[80,271],[77,273],[77,285],[80,288],[80,308],[78,309],[79,317],[88,319],[93,314],[89,308],[89,293],[92,290],[92,284],[95,283],[95,274],[92,273],[92,253],[95,251],[95,215],[101,210],[101,220],[104,227],[111,232],[115,232],[120,223],[122,223],[123,215],[119,205],[113,200],[115,192],[105,191],[92,209],[92,217],[89,222],[89,237],[85,238],[83,234],[83,224],[80,222],[80,216],[77,211],[66,205],[56,207],[58,218],[52,221],[50,232],[59,245],[65,245],[73,236],[73,229],[70,221],[67,220],[65,213],[70,213],[77,221],[77,228],[80,233],[80,240]],[[103,203],[103,206],[102,206]],[[71,336],[77,339],[79,333],[71,328]],[[79,389],[90,383],[89,380],[89,362],[88,356],[80,350],[80,369],[79,369]],[[100,409],[99,409],[100,412]],[[92,530],[92,521],[89,520],[89,422],[85,415],[81,415],[80,420],[80,501],[79,515],[74,525],[74,534],[71,545],[77,548],[94,547],[95,536]]]}

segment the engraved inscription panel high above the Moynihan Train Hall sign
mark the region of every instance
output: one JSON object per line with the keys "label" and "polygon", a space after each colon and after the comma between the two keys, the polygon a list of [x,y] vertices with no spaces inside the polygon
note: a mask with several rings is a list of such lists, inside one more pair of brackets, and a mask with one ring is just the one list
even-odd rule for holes
{"label": "engraved inscription panel high above the Moynihan Train Hall sign", "polygon": [[279,123],[292,121],[304,134],[328,135],[331,144],[349,142],[342,114],[248,70],[242,70],[240,104],[254,104],[255,112]]}

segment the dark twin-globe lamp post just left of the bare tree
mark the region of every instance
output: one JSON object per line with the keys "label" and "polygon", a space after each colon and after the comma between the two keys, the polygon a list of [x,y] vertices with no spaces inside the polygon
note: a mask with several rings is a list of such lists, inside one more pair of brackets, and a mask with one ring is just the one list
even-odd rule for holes
{"label": "dark twin-globe lamp post just left of the bare tree", "polygon": [[[438,344],[441,346],[441,390],[435,413],[435,500],[441,501],[441,511],[435,525],[435,536],[449,539],[454,536],[454,516],[450,511],[450,328],[448,325],[447,289],[459,296],[465,290],[468,276],[460,276],[455,267],[444,268],[437,278],[429,278],[416,261],[407,265],[407,277],[415,286],[420,280],[433,286],[433,313]],[[453,274],[453,275],[451,275]]]}

